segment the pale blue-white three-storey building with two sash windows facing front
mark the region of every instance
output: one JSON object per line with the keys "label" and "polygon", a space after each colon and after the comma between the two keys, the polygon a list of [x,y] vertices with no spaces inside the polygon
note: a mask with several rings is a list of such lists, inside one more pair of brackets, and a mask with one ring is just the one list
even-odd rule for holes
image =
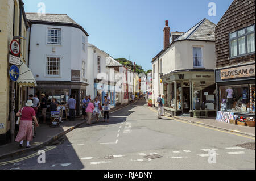
{"label": "pale blue-white three-storey building with two sash windows facing front", "polygon": [[53,97],[59,104],[66,104],[72,94],[76,115],[81,115],[81,100],[89,84],[88,33],[67,14],[26,15],[28,66],[38,83],[30,93],[44,93],[49,103]]}

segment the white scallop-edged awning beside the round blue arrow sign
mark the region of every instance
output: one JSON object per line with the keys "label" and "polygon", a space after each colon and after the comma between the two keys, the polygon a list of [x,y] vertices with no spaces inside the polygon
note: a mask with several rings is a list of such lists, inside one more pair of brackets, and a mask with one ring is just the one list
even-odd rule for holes
{"label": "white scallop-edged awning beside the round blue arrow sign", "polygon": [[34,75],[32,74],[32,71],[30,68],[27,67],[26,64],[23,62],[18,66],[19,67],[19,79],[18,83],[22,86],[28,86],[28,87],[35,87],[38,86],[36,84]]}

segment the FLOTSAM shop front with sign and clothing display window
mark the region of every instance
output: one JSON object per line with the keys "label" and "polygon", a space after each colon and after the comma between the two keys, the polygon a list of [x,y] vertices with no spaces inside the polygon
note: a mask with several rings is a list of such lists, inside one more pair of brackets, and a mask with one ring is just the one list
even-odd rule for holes
{"label": "FLOTSAM shop front with sign and clothing display window", "polygon": [[255,62],[216,69],[217,111],[255,117]]}

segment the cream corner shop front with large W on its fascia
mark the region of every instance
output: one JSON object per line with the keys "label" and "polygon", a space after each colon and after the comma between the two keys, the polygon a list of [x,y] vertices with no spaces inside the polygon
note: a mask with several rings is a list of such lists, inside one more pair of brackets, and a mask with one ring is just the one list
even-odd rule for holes
{"label": "cream corner shop front with large W on its fascia", "polygon": [[[200,103],[208,116],[216,114],[216,86],[213,70],[172,71],[161,77],[164,109],[171,115],[189,114]],[[204,106],[203,106],[204,105]]]}

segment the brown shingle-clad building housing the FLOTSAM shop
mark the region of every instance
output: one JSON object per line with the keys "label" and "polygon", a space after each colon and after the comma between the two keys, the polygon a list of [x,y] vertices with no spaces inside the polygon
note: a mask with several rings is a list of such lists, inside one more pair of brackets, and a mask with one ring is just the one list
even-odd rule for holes
{"label": "brown shingle-clad building housing the FLOTSAM shop", "polygon": [[217,110],[255,117],[255,0],[234,0],[215,34]]}

